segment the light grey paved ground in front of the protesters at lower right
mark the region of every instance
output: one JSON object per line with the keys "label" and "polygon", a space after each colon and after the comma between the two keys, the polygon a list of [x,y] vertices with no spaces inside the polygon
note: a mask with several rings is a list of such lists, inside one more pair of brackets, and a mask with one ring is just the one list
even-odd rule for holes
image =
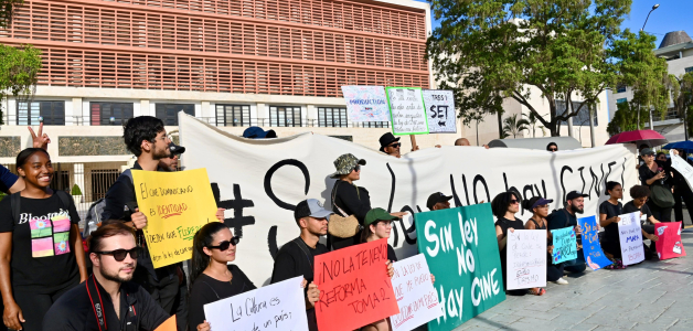
{"label": "light grey paved ground in front of the protesters at lower right", "polygon": [[681,238],[689,257],[587,268],[542,297],[508,296],[455,330],[693,330],[693,226]]}

